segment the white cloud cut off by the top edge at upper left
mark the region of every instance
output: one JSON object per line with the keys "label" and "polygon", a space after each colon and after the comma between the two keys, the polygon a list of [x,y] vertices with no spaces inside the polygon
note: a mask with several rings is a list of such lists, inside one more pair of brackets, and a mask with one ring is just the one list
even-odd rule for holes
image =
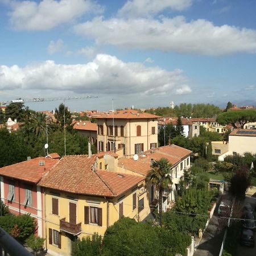
{"label": "white cloud cut off by the top edge at upper left", "polygon": [[16,30],[50,30],[85,13],[102,12],[93,0],[15,1],[10,7],[10,22]]}

